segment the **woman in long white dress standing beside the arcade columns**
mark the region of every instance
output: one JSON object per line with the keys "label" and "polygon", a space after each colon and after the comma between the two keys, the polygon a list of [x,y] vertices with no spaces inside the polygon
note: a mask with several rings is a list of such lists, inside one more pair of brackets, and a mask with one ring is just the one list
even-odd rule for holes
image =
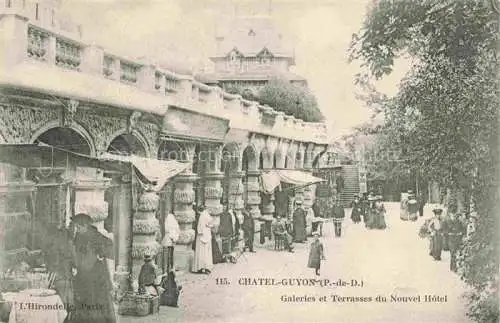
{"label": "woman in long white dress standing beside the arcade columns", "polygon": [[198,235],[196,237],[196,249],[194,252],[193,272],[209,274],[213,268],[212,260],[212,217],[204,206],[198,208],[200,218],[198,219]]}

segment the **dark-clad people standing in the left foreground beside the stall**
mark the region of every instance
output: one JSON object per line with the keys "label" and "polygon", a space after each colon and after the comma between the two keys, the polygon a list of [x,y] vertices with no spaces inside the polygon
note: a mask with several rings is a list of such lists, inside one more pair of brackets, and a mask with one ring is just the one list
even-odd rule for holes
{"label": "dark-clad people standing in the left foreground beside the stall", "polygon": [[116,322],[109,268],[113,242],[92,223],[89,215],[80,213],[68,227],[36,224],[47,269],[55,277],[49,288],[66,305],[65,323]]}

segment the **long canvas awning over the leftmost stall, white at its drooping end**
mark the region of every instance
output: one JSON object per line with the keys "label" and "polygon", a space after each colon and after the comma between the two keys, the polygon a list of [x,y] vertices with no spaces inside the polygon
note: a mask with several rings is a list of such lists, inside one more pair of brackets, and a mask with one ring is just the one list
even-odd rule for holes
{"label": "long canvas awning over the leftmost stall, white at its drooping end", "polygon": [[124,174],[130,173],[133,168],[139,179],[151,184],[154,190],[160,190],[170,178],[191,166],[190,163],[175,160],[157,160],[134,155],[104,153],[93,157],[46,144],[0,145],[0,162],[25,168],[65,167],[66,164],[71,164]]}

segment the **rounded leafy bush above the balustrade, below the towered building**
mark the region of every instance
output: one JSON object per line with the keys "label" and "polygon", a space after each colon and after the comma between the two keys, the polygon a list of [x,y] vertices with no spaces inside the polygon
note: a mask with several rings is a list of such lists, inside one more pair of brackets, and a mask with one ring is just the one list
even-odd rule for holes
{"label": "rounded leafy bush above the balustrade, below the towered building", "polygon": [[270,80],[261,88],[257,97],[260,103],[306,122],[324,120],[314,95],[307,88],[293,85],[287,80]]}

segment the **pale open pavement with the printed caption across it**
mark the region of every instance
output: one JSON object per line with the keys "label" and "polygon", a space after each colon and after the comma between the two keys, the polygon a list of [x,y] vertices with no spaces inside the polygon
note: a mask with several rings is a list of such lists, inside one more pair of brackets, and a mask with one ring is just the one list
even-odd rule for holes
{"label": "pale open pavement with the printed caption across it", "polygon": [[[449,271],[449,252],[434,261],[428,240],[418,237],[423,218],[402,221],[399,203],[385,205],[386,230],[346,218],[343,236],[335,238],[333,224],[325,224],[319,277],[307,268],[312,238],[296,244],[295,253],[274,251],[268,242],[236,264],[216,265],[210,275],[179,275],[178,308],[162,306],[158,314],[118,322],[469,322],[466,289]],[[431,213],[427,206],[424,218]]]}

